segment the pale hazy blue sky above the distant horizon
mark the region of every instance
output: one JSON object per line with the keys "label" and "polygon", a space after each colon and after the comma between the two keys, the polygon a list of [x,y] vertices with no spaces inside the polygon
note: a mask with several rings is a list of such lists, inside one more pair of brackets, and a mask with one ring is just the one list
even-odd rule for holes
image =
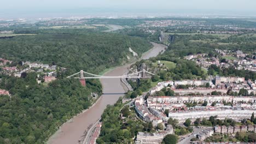
{"label": "pale hazy blue sky above the distant horizon", "polygon": [[1,8],[256,9],[255,0],[8,0]]}

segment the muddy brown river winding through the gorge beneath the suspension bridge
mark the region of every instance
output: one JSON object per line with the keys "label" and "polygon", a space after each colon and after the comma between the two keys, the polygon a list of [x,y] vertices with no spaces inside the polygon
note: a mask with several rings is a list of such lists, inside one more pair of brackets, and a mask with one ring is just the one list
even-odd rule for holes
{"label": "muddy brown river winding through the gorge beneath the suspension bridge", "polygon": [[[165,50],[165,45],[152,43],[153,48],[148,52],[143,53],[142,59],[148,59],[155,57]],[[117,67],[108,71],[106,76],[118,76],[123,75],[128,70],[131,64]],[[100,99],[80,115],[75,116],[69,122],[62,125],[59,131],[57,131],[48,141],[50,144],[75,144],[81,139],[84,131],[90,124],[95,123],[106,109],[107,105],[113,105],[117,102],[119,97],[122,97],[125,93],[123,85],[121,85],[120,79],[101,79],[103,94]]]}

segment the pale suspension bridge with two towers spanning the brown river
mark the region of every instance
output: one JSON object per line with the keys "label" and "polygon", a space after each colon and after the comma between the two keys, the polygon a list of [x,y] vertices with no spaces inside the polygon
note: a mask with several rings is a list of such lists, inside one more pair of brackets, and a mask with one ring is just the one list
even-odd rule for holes
{"label": "pale suspension bridge with two towers spanning the brown river", "polygon": [[[89,76],[84,76],[84,74]],[[150,76],[146,76],[146,74],[149,74]],[[127,74],[127,75],[121,75],[121,76],[103,76],[103,75],[95,75],[88,73],[84,70],[80,70],[78,73],[75,73],[73,75],[68,76],[67,78],[73,77],[75,75],[80,75],[79,77],[74,77],[74,79],[79,79],[80,83],[83,86],[86,86],[86,79],[147,79],[150,78],[152,74],[146,70],[138,71],[136,73]]]}

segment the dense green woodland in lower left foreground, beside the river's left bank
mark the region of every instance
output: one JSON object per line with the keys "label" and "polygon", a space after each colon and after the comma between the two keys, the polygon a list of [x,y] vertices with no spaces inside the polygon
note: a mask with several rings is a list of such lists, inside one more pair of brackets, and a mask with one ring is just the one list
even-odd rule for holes
{"label": "dense green woodland in lower left foreground, beside the river's left bank", "polygon": [[101,92],[97,81],[84,88],[77,80],[59,79],[44,87],[36,77],[1,77],[0,88],[11,97],[0,97],[0,143],[44,143],[62,123],[91,105],[91,92]]}

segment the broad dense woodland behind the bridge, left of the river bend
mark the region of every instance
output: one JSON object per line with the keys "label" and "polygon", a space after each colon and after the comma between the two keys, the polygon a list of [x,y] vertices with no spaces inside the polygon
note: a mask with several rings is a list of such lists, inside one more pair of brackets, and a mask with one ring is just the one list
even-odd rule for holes
{"label": "broad dense woodland behind the bridge, left of the river bend", "polygon": [[[98,73],[105,68],[129,62],[129,47],[139,56],[150,49],[147,40],[121,34],[74,29],[38,31],[0,40],[0,57],[11,60],[55,63],[69,70]],[[134,59],[133,59],[134,60]]]}

